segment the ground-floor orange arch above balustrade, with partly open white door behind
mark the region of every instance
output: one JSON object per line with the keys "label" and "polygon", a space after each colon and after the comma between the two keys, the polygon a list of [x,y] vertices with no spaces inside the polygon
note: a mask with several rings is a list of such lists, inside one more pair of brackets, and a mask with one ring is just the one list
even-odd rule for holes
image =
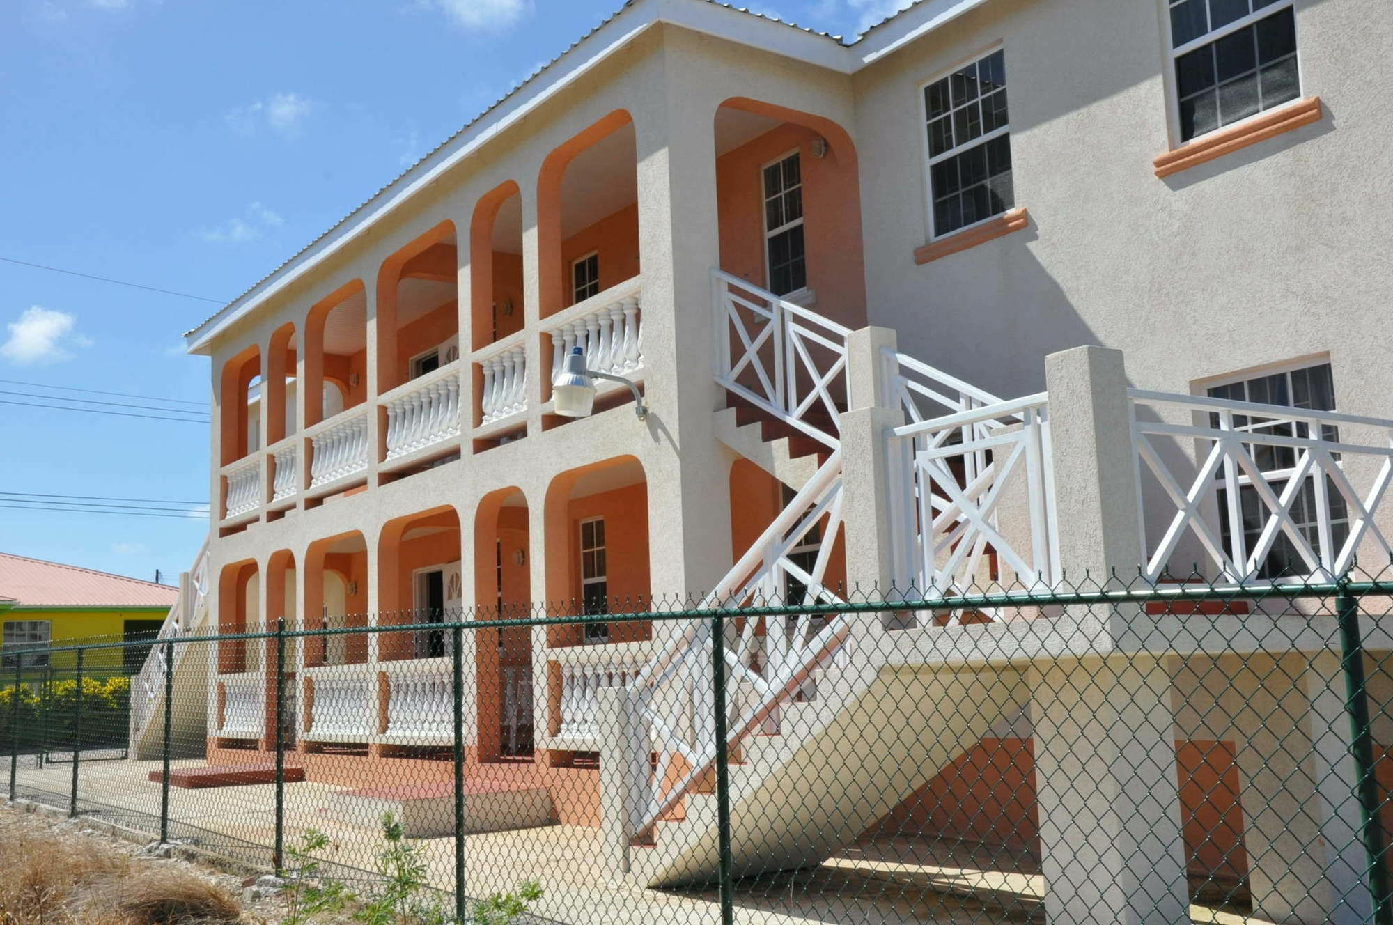
{"label": "ground-floor orange arch above balustrade, with partly open white door behind", "polygon": [[[460,515],[450,506],[389,521],[378,539],[379,625],[450,623],[464,610],[460,564]],[[384,632],[378,641],[382,662],[443,659],[451,653],[450,634],[422,628]]]}

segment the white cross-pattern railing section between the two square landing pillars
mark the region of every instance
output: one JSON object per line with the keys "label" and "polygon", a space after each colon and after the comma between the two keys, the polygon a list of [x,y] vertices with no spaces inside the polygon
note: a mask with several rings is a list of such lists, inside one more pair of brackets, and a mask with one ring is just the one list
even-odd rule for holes
{"label": "white cross-pattern railing section between the two square landing pillars", "polygon": [[1055,584],[1048,411],[1041,393],[890,432],[897,584],[944,596]]}

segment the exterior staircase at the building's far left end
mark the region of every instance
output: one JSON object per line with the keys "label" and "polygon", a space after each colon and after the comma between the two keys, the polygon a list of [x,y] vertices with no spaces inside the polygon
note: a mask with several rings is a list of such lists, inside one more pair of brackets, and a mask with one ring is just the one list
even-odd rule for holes
{"label": "exterior staircase at the building's far left end", "polygon": [[202,756],[208,743],[209,646],[174,645],[173,666],[162,641],[202,631],[208,619],[208,541],[194,557],[192,571],[180,575],[180,596],[160,627],[139,674],[131,678],[130,756],[155,761],[164,754],[164,685],[173,671],[176,697],[170,716],[170,756]]}

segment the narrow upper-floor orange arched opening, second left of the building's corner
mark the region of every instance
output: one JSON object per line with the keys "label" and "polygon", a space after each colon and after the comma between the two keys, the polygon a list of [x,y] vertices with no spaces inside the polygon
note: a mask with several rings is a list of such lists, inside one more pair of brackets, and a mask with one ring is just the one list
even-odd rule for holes
{"label": "narrow upper-floor orange arched opening, second left of the building's corner", "polygon": [[511,180],[474,208],[469,305],[474,350],[522,330],[522,192]]}

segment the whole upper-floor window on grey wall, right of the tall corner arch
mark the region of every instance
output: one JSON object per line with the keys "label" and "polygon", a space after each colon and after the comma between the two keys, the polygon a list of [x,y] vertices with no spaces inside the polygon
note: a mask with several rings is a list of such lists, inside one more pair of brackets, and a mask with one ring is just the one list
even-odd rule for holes
{"label": "whole upper-floor window on grey wall, right of the tall corner arch", "polygon": [[997,49],[924,88],[933,237],[1015,205],[1006,117],[1006,53]]}

